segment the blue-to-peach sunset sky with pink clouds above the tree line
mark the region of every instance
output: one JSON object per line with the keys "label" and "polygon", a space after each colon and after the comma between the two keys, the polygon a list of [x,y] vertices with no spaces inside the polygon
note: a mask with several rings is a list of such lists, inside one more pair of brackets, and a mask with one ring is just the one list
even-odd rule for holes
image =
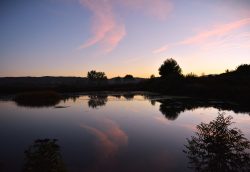
{"label": "blue-to-peach sunset sky with pink clouds above the tree line", "polygon": [[158,76],[250,63],[250,0],[1,0],[0,77]]}

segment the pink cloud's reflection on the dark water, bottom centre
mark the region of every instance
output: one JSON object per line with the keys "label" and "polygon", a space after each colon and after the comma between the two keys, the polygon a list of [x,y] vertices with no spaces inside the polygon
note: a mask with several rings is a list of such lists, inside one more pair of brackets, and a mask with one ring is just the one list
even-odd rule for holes
{"label": "pink cloud's reflection on the dark water, bottom centre", "polygon": [[[97,121],[96,121],[97,122]],[[95,160],[84,171],[116,171],[115,162],[128,144],[128,135],[117,122],[103,118],[101,125],[92,126],[82,124],[81,128],[94,136],[91,144],[94,146],[92,154]]]}

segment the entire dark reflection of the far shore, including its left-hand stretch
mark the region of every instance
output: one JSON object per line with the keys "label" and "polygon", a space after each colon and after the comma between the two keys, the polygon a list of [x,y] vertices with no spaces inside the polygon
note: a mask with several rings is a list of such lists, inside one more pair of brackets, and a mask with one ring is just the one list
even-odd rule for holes
{"label": "entire dark reflection of the far shore, including its left-hand stretch", "polygon": [[[214,107],[219,110],[232,110],[235,113],[248,113],[250,115],[250,106],[241,105],[232,102],[222,102],[222,101],[213,101],[213,100],[201,100],[193,98],[178,98],[178,97],[169,97],[157,94],[150,93],[134,93],[134,92],[121,92],[121,93],[101,93],[101,94],[92,94],[88,95],[88,106],[89,108],[100,108],[107,104],[109,96],[115,97],[117,99],[125,100],[134,100],[136,95],[141,95],[144,99],[149,100],[151,105],[154,106],[156,103],[159,103],[159,111],[168,119],[175,120],[178,118],[179,114],[186,110],[194,110],[197,108],[208,108]],[[80,97],[80,95],[63,95],[59,99],[38,99],[39,101],[25,101],[16,103],[19,106],[27,107],[49,107],[56,106],[60,101],[68,101],[72,99],[74,102]],[[37,103],[38,102],[38,103]],[[57,106],[60,107],[60,106]]]}

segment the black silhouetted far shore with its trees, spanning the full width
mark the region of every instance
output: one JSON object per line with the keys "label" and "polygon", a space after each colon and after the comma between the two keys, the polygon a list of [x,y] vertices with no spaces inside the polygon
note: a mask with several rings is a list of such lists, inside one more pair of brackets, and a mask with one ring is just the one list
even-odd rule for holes
{"label": "black silhouetted far shore with its trees, spanning the full width", "polygon": [[160,77],[134,78],[132,75],[107,79],[104,72],[90,71],[81,77],[0,78],[0,94],[53,90],[59,93],[83,91],[152,91],[168,95],[220,99],[243,104],[250,102],[250,65],[218,75],[182,74],[173,59],[159,68]]}

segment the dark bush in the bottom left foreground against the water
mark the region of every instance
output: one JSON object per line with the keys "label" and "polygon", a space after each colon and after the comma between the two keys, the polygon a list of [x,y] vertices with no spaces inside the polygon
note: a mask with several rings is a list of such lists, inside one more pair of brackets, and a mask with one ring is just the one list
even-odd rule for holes
{"label": "dark bush in the bottom left foreground against the water", "polygon": [[24,172],[66,172],[56,139],[38,139],[25,151]]}

